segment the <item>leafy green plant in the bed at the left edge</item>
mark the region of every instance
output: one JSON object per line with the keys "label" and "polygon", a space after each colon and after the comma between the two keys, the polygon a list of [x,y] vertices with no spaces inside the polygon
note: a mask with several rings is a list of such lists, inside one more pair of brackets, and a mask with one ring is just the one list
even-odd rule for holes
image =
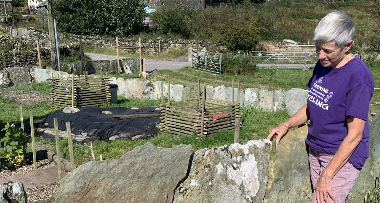
{"label": "leafy green plant in the bed at the left edge", "polygon": [[9,163],[9,166],[19,167],[25,162],[26,154],[26,140],[25,133],[22,131],[21,127],[14,127],[14,124],[6,123],[5,127],[1,132],[5,132],[4,138],[1,139],[1,142],[5,146],[9,145],[6,151],[6,159]]}

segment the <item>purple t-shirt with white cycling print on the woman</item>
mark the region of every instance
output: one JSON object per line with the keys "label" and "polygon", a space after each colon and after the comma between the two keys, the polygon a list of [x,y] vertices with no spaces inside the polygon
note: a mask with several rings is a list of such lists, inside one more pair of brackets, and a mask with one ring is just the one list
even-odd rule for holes
{"label": "purple t-shirt with white cycling print on the woman", "polygon": [[359,58],[340,68],[315,65],[309,87],[307,109],[310,112],[307,145],[317,151],[335,154],[347,136],[347,116],[366,121],[363,138],[348,159],[361,169],[369,157],[369,101],[374,94],[374,78]]}

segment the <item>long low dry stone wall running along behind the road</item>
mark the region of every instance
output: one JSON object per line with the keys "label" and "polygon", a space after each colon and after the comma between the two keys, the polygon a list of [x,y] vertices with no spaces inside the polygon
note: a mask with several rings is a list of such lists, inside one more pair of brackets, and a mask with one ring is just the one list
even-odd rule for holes
{"label": "long low dry stone wall running along behind the road", "polygon": [[[35,39],[49,38],[49,33],[45,30],[39,30],[37,28],[30,28],[30,36]],[[70,33],[58,33],[58,38],[60,41],[78,41],[82,38],[82,42],[87,42],[95,44],[100,47],[114,47],[116,48],[116,38],[106,37],[106,36],[89,36],[89,35],[74,35]],[[183,39],[141,39],[141,46],[143,54],[158,53],[158,41],[160,40],[160,50],[165,51],[175,47],[194,47],[195,49],[203,49],[206,47],[207,50],[222,52],[226,50],[223,46],[216,46],[210,42],[203,42],[197,40],[183,40]],[[119,47],[130,47],[138,46],[138,39],[126,39],[119,38]],[[138,52],[137,49],[123,50],[125,52]]]}

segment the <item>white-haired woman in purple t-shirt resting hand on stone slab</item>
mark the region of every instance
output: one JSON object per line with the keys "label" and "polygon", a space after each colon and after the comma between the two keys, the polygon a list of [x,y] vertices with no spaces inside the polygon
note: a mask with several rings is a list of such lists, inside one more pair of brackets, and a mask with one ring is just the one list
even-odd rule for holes
{"label": "white-haired woman in purple t-shirt resting hand on stone slab", "polygon": [[271,129],[276,143],[288,128],[310,120],[309,146],[312,203],[344,203],[369,156],[369,101],[374,79],[368,67],[351,54],[355,32],[345,13],[329,13],[314,31],[319,60],[307,82],[307,104],[289,120]]}

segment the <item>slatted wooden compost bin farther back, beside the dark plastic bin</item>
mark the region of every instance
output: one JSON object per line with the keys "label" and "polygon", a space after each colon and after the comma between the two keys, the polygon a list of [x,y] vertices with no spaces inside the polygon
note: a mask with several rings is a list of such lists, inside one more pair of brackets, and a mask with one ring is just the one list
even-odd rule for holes
{"label": "slatted wooden compost bin farther back, beside the dark plastic bin", "polygon": [[107,78],[71,77],[51,79],[52,106],[58,108],[100,106],[111,104],[109,81]]}

